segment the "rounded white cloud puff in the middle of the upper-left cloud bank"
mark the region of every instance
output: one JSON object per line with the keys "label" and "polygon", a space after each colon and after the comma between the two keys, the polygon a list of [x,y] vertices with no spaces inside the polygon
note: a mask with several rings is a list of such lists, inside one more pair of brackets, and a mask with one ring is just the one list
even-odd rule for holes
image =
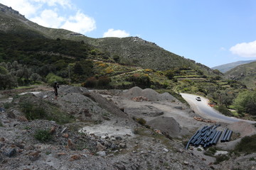
{"label": "rounded white cloud puff in the middle of the upper-left cloud bank", "polygon": [[31,18],[31,21],[49,28],[60,28],[63,21],[65,21],[65,18],[58,16],[58,13],[53,10],[46,9],[41,13],[40,16]]}

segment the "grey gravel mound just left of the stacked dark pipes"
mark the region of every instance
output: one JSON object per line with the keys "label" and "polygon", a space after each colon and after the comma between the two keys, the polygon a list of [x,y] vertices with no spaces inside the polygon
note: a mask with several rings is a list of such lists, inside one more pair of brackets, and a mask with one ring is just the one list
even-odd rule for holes
{"label": "grey gravel mound just left of the stacked dark pipes", "polygon": [[169,135],[170,137],[180,138],[183,135],[188,135],[189,133],[188,130],[181,128],[181,126],[172,117],[161,116],[146,124],[150,125],[152,128],[161,130],[163,134]]}

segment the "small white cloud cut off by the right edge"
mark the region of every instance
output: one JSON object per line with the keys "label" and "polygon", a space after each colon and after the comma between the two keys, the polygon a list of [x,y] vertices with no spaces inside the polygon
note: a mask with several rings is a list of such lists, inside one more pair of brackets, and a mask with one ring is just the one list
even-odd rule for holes
{"label": "small white cloud cut off by the right edge", "polygon": [[256,40],[237,44],[230,47],[230,51],[240,57],[256,57]]}

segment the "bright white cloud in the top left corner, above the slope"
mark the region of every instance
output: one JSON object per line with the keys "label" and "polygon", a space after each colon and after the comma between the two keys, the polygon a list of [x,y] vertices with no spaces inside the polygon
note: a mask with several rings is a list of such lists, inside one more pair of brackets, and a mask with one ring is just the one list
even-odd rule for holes
{"label": "bright white cloud in the top left corner, above the slope", "polygon": [[25,15],[27,18],[35,14],[38,8],[40,8],[39,4],[31,4],[31,2],[28,0],[0,0],[0,3],[6,6],[11,6],[11,8],[18,11],[22,15]]}

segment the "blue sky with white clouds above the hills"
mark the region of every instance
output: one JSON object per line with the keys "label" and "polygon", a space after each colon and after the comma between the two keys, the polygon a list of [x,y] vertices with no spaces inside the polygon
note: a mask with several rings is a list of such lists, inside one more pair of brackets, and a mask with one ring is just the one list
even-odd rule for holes
{"label": "blue sky with white clouds above the hills", "polygon": [[0,0],[91,38],[138,36],[208,67],[256,60],[255,0]]}

